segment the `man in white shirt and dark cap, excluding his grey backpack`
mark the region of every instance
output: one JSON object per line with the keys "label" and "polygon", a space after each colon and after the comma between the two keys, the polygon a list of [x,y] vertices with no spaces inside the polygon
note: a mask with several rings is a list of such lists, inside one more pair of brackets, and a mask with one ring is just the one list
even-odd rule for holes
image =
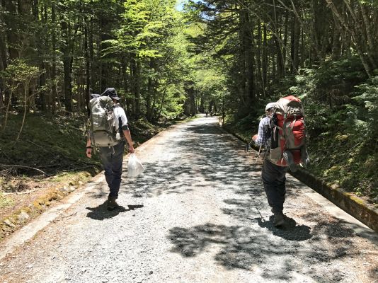
{"label": "man in white shirt and dark cap, excluding his grey backpack", "polygon": [[[108,96],[113,100],[115,131],[119,134],[116,134],[118,139],[115,141],[115,145],[98,147],[105,171],[106,183],[108,183],[110,189],[107,207],[108,210],[113,210],[115,207],[118,207],[118,203],[115,200],[117,200],[120,190],[125,141],[127,141],[129,145],[128,150],[130,153],[134,152],[134,146],[132,145],[129,127],[127,126],[125,110],[119,105],[120,98],[118,97],[117,91],[115,91],[115,88],[106,88],[101,96]],[[92,144],[91,133],[88,132],[88,139],[86,141],[86,156],[88,156],[88,158],[91,158]]]}

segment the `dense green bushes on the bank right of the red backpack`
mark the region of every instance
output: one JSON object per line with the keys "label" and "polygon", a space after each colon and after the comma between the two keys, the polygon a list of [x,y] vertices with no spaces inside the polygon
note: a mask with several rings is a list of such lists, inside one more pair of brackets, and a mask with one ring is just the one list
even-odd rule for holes
{"label": "dense green bushes on the bank right of the red backpack", "polygon": [[303,99],[310,170],[357,195],[378,197],[378,77],[356,57],[302,69],[290,91]]}

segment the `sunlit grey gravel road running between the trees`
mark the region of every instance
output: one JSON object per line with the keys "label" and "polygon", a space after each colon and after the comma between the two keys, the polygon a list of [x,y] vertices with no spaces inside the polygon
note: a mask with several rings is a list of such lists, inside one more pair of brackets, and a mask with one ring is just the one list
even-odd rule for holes
{"label": "sunlit grey gravel road running between the trees", "polygon": [[137,180],[124,173],[120,209],[106,211],[104,183],[88,184],[0,261],[0,282],[378,281],[371,232],[356,233],[293,178],[289,224],[275,229],[260,166],[214,118],[161,132],[137,155],[146,169]]}

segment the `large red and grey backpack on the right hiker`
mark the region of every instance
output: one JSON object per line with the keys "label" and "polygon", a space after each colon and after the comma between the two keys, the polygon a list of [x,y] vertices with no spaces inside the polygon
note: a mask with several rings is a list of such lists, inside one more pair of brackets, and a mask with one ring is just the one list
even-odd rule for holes
{"label": "large red and grey backpack on the right hiker", "polygon": [[287,166],[283,153],[289,150],[294,163],[302,163],[305,151],[306,127],[301,100],[294,96],[280,98],[277,101],[270,123],[271,145],[270,161],[278,166]]}

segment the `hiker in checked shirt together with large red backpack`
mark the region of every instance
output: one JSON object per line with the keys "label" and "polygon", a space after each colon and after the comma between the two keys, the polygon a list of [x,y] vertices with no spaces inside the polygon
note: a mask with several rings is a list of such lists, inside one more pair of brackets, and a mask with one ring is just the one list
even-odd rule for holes
{"label": "hiker in checked shirt together with large red backpack", "polygon": [[268,204],[274,214],[273,225],[285,224],[283,204],[286,195],[286,172],[296,171],[299,163],[308,163],[302,103],[294,96],[281,98],[265,107],[267,117],[260,120],[258,134],[252,137],[265,147],[263,178]]}

